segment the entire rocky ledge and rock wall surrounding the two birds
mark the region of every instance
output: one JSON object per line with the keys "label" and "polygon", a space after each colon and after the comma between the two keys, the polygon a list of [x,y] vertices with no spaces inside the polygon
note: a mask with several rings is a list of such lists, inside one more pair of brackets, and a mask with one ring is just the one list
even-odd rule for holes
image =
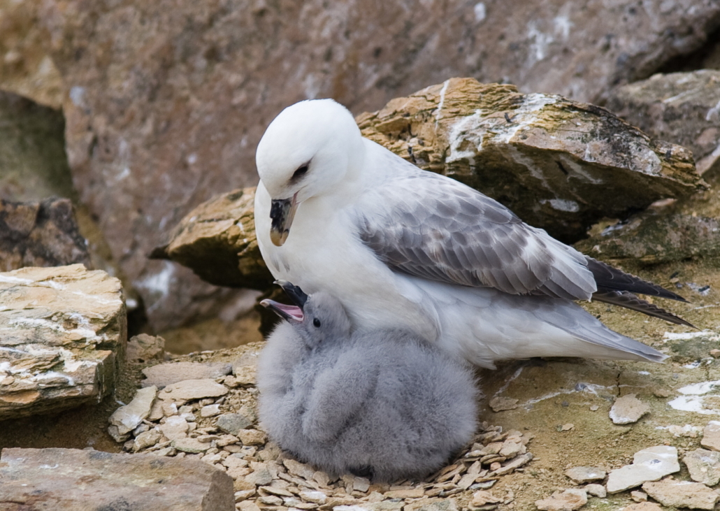
{"label": "entire rocky ledge and rock wall surrounding the two birds", "polygon": [[[0,0],[0,509],[719,507],[719,5],[420,4]],[[425,481],[288,458],[256,419],[252,161],[313,96],[698,329],[583,304],[669,358],[479,371],[482,428]]]}

